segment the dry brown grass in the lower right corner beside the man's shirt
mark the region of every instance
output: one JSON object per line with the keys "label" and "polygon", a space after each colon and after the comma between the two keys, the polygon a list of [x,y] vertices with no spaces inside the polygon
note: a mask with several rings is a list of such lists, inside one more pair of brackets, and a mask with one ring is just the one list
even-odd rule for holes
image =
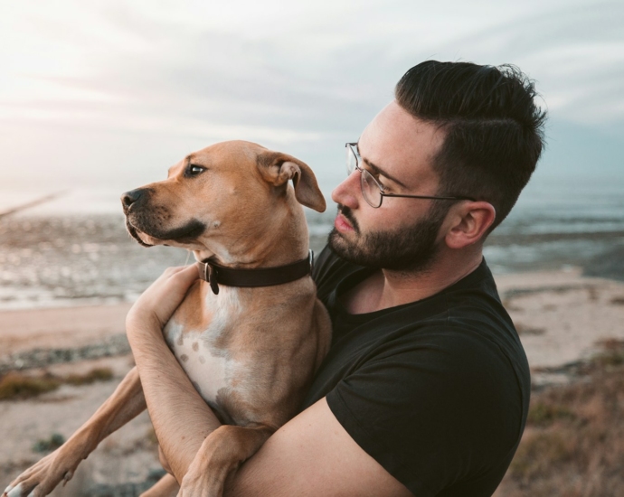
{"label": "dry brown grass in the lower right corner beside the man's shirt", "polygon": [[496,497],[624,495],[624,344],[602,345],[585,380],[534,393]]}

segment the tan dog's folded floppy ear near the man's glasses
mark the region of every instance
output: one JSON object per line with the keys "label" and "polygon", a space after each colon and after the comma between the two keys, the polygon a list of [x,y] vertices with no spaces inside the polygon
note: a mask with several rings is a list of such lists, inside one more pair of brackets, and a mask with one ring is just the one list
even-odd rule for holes
{"label": "tan dog's folded floppy ear near the man's glasses", "polygon": [[306,163],[292,155],[270,151],[258,155],[257,163],[267,183],[285,187],[288,180],[292,180],[295,197],[300,204],[315,211],[325,211],[325,198],[318,188],[316,176]]}

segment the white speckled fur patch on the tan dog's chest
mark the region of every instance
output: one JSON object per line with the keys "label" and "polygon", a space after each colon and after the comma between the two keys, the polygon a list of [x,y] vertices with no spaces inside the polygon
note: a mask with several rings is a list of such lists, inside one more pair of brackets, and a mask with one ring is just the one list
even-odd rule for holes
{"label": "white speckled fur patch on the tan dog's chest", "polygon": [[235,289],[220,292],[219,298],[207,299],[211,319],[197,330],[176,315],[165,326],[165,340],[174,352],[194,388],[203,399],[215,406],[229,389],[245,376],[246,364],[235,360],[228,348],[229,337],[235,332],[242,313]]}

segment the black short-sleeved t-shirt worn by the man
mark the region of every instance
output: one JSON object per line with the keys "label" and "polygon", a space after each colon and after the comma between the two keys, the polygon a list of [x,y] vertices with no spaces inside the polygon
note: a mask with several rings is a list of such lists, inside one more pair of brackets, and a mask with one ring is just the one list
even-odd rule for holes
{"label": "black short-sleeved t-shirt worn by the man", "polygon": [[531,382],[485,260],[439,294],[347,314],[339,296],[370,274],[329,248],[317,260],[334,330],[304,408],[326,397],[355,442],[417,497],[491,495],[522,436]]}

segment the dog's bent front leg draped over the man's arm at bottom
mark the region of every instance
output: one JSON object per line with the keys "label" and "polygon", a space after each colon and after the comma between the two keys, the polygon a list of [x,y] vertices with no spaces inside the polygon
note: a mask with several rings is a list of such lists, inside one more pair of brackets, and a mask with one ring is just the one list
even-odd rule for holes
{"label": "dog's bent front leg draped over the man's arm at bottom", "polygon": [[203,440],[182,479],[178,497],[221,497],[229,474],[258,452],[275,430],[223,425]]}

